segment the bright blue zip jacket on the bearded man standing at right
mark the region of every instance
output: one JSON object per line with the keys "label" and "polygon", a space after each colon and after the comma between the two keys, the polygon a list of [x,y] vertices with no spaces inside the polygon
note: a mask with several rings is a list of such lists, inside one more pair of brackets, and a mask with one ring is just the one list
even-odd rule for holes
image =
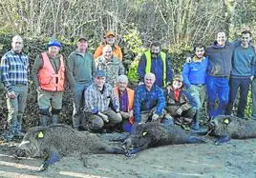
{"label": "bright blue zip jacket on the bearded man standing at right", "polygon": [[185,63],[182,69],[183,83],[187,88],[191,85],[205,84],[208,57],[204,57],[201,62]]}

